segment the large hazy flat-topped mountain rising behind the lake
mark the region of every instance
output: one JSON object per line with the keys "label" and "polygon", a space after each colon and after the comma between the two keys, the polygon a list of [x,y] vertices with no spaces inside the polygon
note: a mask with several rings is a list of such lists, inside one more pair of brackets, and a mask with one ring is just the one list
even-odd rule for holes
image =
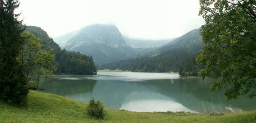
{"label": "large hazy flat-topped mountain rising behind the lake", "polygon": [[[154,51],[156,48],[132,48],[126,45],[122,34],[115,25],[88,25],[76,35],[69,33],[62,48],[92,55],[96,64],[105,64],[120,59],[128,59],[138,54]],[[62,36],[64,37],[64,36]],[[61,37],[58,37],[61,40]],[[56,39],[58,39],[56,38]],[[65,40],[64,40],[65,41]]]}

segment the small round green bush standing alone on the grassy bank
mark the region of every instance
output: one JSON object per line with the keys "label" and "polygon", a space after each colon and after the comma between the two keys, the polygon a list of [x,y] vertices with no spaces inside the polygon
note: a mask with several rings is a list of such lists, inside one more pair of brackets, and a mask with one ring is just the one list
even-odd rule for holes
{"label": "small round green bush standing alone on the grassy bank", "polygon": [[91,97],[89,100],[89,105],[86,107],[86,111],[88,115],[103,119],[106,111],[104,111],[103,102],[100,100],[94,100],[94,97]]}

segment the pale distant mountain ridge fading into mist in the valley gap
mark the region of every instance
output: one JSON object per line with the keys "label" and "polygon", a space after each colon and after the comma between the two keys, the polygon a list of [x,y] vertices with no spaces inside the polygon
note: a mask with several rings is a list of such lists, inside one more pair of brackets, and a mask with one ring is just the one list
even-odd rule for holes
{"label": "pale distant mountain ridge fading into mist in the valley gap", "polygon": [[150,48],[150,47],[160,47],[166,43],[171,43],[173,39],[166,40],[141,40],[141,39],[131,39],[129,37],[123,36],[125,43],[132,48]]}

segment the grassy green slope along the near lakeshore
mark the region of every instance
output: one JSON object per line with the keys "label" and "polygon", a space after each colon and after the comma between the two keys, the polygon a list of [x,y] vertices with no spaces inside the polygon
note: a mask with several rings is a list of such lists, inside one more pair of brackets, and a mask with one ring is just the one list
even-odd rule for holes
{"label": "grassy green slope along the near lakeshore", "polygon": [[25,107],[0,102],[0,122],[256,122],[256,111],[210,116],[195,113],[140,113],[113,109],[106,109],[106,118],[98,120],[86,115],[85,107],[87,104],[62,96],[30,91],[28,102]]}

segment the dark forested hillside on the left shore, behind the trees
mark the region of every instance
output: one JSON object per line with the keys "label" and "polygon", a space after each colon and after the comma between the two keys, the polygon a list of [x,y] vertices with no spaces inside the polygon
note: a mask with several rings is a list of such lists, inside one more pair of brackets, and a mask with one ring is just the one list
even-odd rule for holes
{"label": "dark forested hillside on the left shore, behind the trees", "polygon": [[97,74],[97,67],[92,57],[79,52],[61,50],[60,46],[40,27],[27,26],[26,31],[41,39],[41,49],[45,51],[53,49],[56,74]]}

